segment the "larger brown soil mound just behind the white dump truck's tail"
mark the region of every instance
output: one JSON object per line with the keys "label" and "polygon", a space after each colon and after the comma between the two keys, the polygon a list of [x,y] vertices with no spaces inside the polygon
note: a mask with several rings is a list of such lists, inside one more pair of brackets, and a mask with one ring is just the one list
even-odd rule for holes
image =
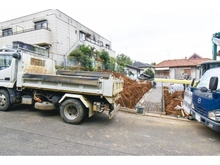
{"label": "larger brown soil mound just behind the white dump truck's tail", "polygon": [[121,98],[117,100],[122,107],[134,109],[138,101],[143,95],[152,88],[152,83],[149,81],[140,81],[130,79],[121,73],[113,73],[115,77],[121,77],[124,80],[124,88],[121,93]]}

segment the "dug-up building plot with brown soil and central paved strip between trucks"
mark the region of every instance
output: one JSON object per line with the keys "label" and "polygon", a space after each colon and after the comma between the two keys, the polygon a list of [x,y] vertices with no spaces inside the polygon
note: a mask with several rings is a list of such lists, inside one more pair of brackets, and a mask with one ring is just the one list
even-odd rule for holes
{"label": "dug-up building plot with brown soil and central paved strip between trucks", "polygon": [[[170,92],[168,86],[164,85],[158,87],[156,96],[151,96],[150,93],[155,90],[152,81],[136,81],[120,73],[114,73],[114,76],[124,80],[124,88],[118,100],[122,110],[187,117],[182,108],[184,90]],[[139,111],[140,107],[142,111]]]}

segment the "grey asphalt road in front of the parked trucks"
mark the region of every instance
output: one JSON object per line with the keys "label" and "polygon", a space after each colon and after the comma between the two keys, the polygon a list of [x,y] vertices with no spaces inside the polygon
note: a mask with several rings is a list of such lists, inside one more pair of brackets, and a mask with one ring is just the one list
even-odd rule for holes
{"label": "grey asphalt road in front of the parked trucks", "polygon": [[23,107],[0,112],[0,155],[219,156],[220,133],[196,121],[126,112],[71,125],[58,111]]}

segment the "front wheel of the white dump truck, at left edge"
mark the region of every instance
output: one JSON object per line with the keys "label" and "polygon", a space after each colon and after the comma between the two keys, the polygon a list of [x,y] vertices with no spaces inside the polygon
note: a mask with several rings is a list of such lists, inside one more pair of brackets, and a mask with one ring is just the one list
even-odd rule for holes
{"label": "front wheel of the white dump truck, at left edge", "polygon": [[0,111],[7,111],[10,107],[9,94],[6,90],[0,90]]}

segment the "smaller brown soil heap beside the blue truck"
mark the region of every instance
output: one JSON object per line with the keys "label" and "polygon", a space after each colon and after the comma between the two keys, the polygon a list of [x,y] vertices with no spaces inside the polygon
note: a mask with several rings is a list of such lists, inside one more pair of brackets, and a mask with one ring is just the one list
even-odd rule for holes
{"label": "smaller brown soil heap beside the blue truck", "polygon": [[184,99],[184,91],[175,91],[169,93],[168,87],[164,87],[164,104],[165,112],[167,115],[182,116],[186,117],[187,115],[181,109],[175,109],[175,107],[182,106]]}

